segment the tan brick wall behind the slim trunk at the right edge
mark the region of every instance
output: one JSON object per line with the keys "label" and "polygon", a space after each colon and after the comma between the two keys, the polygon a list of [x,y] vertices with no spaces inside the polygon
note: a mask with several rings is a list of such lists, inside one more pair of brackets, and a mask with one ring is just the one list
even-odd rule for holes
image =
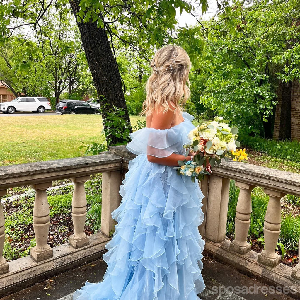
{"label": "tan brick wall behind the slim trunk at the right edge", "polygon": [[[279,134],[280,110],[282,88],[279,86],[277,90],[278,104],[275,111],[274,134],[273,138],[277,139]],[[291,98],[291,136],[292,140],[300,141],[300,82],[292,83],[292,98]]]}

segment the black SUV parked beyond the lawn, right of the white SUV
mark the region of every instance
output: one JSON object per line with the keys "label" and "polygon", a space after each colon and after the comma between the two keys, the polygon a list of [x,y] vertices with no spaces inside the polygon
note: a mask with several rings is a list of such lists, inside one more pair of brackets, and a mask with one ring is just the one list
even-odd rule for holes
{"label": "black SUV parked beyond the lawn, right of the white SUV", "polygon": [[56,105],[55,113],[60,115],[64,115],[66,113],[70,115],[75,115],[78,113],[92,113],[94,115],[101,114],[98,107],[92,107],[85,101],[69,99],[59,101]]}

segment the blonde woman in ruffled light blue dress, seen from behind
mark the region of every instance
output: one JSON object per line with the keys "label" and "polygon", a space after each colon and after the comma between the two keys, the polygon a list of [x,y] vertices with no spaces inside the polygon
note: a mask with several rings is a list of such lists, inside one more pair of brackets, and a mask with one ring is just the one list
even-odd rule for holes
{"label": "blonde woman in ruffled light blue dress, seen from behind", "polygon": [[118,224],[103,255],[107,271],[102,282],[76,290],[74,300],[196,300],[205,288],[205,242],[198,231],[203,194],[173,167],[192,159],[183,145],[195,126],[182,109],[190,96],[190,58],[181,47],[165,46],[151,67],[142,112],[147,127],[132,133],[126,146],[137,157],[112,212]]}

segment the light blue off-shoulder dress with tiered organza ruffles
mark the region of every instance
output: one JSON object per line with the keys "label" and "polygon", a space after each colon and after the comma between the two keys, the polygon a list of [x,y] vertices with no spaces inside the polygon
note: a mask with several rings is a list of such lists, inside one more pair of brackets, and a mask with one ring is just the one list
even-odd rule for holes
{"label": "light blue off-shoulder dress with tiered organza ruffles", "polygon": [[121,205],[112,212],[118,222],[103,254],[104,280],[86,282],[74,300],[196,300],[205,288],[201,270],[204,240],[203,194],[189,177],[172,166],[151,163],[147,154],[184,154],[195,126],[184,122],[170,129],[142,128],[126,146],[137,154],[120,187]]}

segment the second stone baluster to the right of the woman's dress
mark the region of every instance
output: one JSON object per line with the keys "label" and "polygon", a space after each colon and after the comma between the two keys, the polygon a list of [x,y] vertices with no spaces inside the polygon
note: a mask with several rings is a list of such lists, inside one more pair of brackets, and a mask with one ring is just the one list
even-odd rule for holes
{"label": "second stone baluster to the right of the woman's dress", "polygon": [[265,214],[265,226],[263,227],[265,238],[265,250],[257,256],[257,261],[274,268],[280,263],[280,255],[275,252],[281,227],[281,206],[280,199],[283,193],[265,188],[269,195],[269,202]]}

